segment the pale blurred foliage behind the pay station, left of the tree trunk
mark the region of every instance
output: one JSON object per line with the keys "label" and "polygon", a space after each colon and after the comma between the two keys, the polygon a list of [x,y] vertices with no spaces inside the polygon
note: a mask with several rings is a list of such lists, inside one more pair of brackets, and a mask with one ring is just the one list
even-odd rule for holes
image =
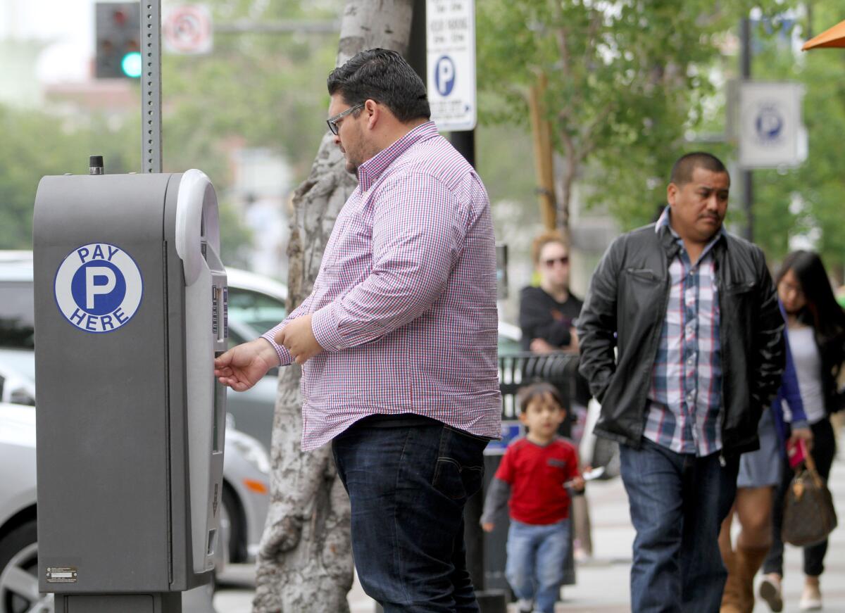
{"label": "pale blurred foliage behind the pay station, left of the tree trunk", "polygon": [[[342,0],[210,0],[215,24],[338,21]],[[325,78],[335,65],[336,35],[254,32],[215,35],[204,56],[162,57],[164,170],[199,168],[221,200],[226,263],[245,264],[251,241],[233,202],[230,154],[266,147],[292,166],[294,184],[308,174],[325,132]],[[140,105],[139,86],[135,86]],[[41,176],[88,171],[101,154],[106,172],[140,170],[139,113],[74,117],[0,106],[0,248],[31,246],[32,204]]]}

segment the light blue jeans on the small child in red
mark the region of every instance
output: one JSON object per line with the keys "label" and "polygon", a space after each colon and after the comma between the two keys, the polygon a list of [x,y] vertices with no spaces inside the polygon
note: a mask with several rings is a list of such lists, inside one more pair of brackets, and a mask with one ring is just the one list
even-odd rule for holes
{"label": "light blue jeans on the small child in red", "polygon": [[516,597],[534,600],[542,613],[554,613],[569,546],[569,519],[535,525],[511,518],[504,576]]}

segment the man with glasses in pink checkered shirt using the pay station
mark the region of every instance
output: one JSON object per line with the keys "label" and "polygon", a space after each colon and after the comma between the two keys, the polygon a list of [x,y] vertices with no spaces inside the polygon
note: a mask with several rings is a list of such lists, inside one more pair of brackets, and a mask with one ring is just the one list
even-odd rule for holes
{"label": "man with glasses in pink checkered shirt using the pay station", "polygon": [[359,53],[328,85],[358,187],[311,295],[215,375],[243,391],[303,365],[303,449],[332,443],[364,590],[385,611],[477,611],[463,507],[501,431],[487,193],[398,53]]}

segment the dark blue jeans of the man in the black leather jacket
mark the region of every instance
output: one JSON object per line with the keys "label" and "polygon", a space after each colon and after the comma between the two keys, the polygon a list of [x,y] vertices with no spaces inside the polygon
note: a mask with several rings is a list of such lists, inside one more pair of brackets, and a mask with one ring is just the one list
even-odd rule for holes
{"label": "dark blue jeans of the man in the black leather jacket", "polygon": [[635,613],[717,613],[728,572],[718,536],[736,496],[739,459],[697,458],[654,442],[620,446],[622,480],[636,529],[631,567]]}

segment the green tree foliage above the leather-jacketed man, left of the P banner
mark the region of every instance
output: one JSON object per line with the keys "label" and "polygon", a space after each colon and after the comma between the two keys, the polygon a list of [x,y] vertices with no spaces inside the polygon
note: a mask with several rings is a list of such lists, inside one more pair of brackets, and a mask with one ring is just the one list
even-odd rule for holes
{"label": "green tree foliage above the leather-jacketed man, left of the P banner", "polygon": [[[761,6],[762,5],[762,6]],[[548,78],[546,115],[564,157],[561,209],[575,182],[624,228],[653,217],[668,170],[706,123],[711,73],[742,15],[778,0],[486,0],[477,3],[482,119],[528,125],[528,92]]]}

